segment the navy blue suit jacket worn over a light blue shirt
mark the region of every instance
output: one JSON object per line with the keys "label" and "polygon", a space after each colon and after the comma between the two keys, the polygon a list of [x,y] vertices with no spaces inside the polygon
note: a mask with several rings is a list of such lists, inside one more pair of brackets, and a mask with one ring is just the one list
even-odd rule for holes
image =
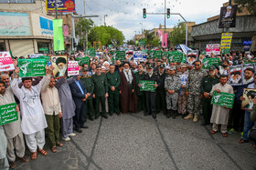
{"label": "navy blue suit jacket worn over a light blue shirt", "polygon": [[86,88],[80,80],[79,84],[84,94],[81,93],[80,87],[76,84],[76,82],[69,85],[77,109],[80,109],[81,105],[83,104],[82,99],[85,98],[85,95],[87,94]]}

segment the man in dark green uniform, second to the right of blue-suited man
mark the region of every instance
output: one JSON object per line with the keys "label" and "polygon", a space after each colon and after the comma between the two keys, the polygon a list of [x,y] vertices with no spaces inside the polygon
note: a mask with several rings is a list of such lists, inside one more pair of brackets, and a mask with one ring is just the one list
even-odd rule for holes
{"label": "man in dark green uniform, second to the right of blue-suited man", "polygon": [[108,82],[106,75],[101,75],[101,66],[96,67],[96,74],[92,75],[92,81],[94,84],[94,92],[93,98],[95,98],[95,106],[96,106],[96,115],[95,119],[98,119],[100,116],[100,103],[101,103],[101,115],[105,119],[108,118],[106,115],[106,106],[105,102],[108,95]]}

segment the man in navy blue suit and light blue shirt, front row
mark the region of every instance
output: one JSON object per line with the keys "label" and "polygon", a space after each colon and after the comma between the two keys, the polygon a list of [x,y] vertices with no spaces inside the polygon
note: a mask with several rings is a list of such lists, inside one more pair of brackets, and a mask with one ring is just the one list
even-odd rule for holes
{"label": "man in navy blue suit and light blue shirt, front row", "polygon": [[74,125],[75,130],[78,133],[81,133],[80,128],[88,128],[87,125],[84,125],[86,122],[86,117],[84,113],[84,105],[87,99],[87,91],[83,83],[80,81],[80,76],[77,77],[75,82],[69,85],[71,94],[76,105],[75,116],[74,116]]}

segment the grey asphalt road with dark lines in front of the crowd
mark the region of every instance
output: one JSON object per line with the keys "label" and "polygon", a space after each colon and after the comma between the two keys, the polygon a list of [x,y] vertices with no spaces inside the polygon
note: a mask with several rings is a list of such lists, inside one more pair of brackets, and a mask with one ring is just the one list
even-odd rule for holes
{"label": "grey asphalt road with dark lines in front of the crowd", "polygon": [[180,116],[112,115],[86,125],[89,129],[63,142],[57,153],[46,145],[47,156],[18,161],[16,169],[256,169],[256,149],[238,144],[239,134],[210,135],[210,125]]}

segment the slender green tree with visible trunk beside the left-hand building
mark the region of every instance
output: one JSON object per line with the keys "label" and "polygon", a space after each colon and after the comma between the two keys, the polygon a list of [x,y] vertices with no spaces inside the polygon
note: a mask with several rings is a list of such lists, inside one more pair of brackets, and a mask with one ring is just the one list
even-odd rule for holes
{"label": "slender green tree with visible trunk beside the left-hand building", "polygon": [[78,24],[76,25],[76,35],[80,35],[80,45],[85,48],[86,45],[86,33],[91,31],[94,25],[91,19],[80,18]]}

